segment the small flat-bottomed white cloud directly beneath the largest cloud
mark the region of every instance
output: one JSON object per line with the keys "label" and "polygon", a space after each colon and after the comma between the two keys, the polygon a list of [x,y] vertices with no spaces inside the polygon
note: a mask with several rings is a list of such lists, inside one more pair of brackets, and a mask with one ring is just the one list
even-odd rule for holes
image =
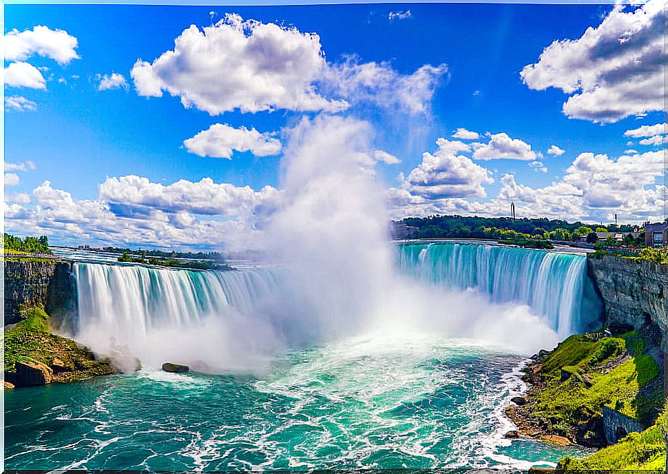
{"label": "small flat-bottomed white cloud directly beneath the largest cloud", "polygon": [[233,128],[227,124],[214,123],[208,130],[202,130],[183,142],[186,149],[199,156],[231,158],[233,152],[251,152],[255,156],[277,155],[281,143],[271,134],[260,133],[255,128]]}

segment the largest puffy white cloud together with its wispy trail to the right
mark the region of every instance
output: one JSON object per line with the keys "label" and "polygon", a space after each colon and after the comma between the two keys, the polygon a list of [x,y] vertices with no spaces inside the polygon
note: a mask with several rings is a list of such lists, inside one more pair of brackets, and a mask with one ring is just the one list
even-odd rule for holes
{"label": "largest puffy white cloud together with its wispy trail to the right", "polygon": [[139,59],[130,75],[140,96],[168,92],[185,107],[218,115],[340,112],[351,103],[421,113],[446,73],[441,64],[400,74],[389,63],[362,63],[356,56],[329,64],[315,33],[227,14],[201,30],[191,25],[174,40],[173,50],[152,62]]}

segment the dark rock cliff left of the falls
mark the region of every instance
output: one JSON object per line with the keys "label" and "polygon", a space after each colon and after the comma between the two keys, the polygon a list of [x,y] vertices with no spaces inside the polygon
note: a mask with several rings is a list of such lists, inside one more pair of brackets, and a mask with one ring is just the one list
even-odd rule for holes
{"label": "dark rock cliff left of the falls", "polygon": [[76,285],[70,262],[6,260],[5,324],[21,320],[19,309],[41,305],[54,322],[67,324],[76,315]]}

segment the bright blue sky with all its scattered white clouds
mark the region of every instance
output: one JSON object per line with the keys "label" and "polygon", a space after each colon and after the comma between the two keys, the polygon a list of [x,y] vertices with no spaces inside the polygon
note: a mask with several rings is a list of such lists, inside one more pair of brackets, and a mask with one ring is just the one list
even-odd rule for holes
{"label": "bright blue sky with all its scattered white clouds", "polygon": [[[45,233],[63,243],[150,245],[163,239],[181,247],[196,246],[192,236],[220,232],[216,226],[254,229],[257,206],[278,206],[259,193],[269,186],[267,193],[280,194],[291,127],[322,114],[368,123],[369,152],[395,157],[373,165],[388,189],[393,218],[505,215],[511,200],[528,216],[596,222],[617,213],[638,223],[662,218],[665,127],[656,97],[656,5],[6,6],[5,31],[17,39],[6,48],[5,61],[6,229]],[[225,19],[232,13],[261,27],[231,40],[224,33],[233,30],[233,21]],[[253,52],[253,37],[271,24],[280,28],[262,48],[276,49],[271,55]],[[156,59],[174,50],[190,25],[199,31],[193,36],[197,48],[230,50],[225,41],[248,41],[249,47],[224,59],[182,48],[176,63],[158,66]],[[40,26],[48,30],[37,34]],[[45,49],[57,30],[70,42],[52,41],[53,48]],[[647,32],[656,34],[636,44]],[[317,34],[320,46],[311,48],[314,39],[305,33]],[[583,41],[586,34],[593,41]],[[563,40],[571,41],[549,50]],[[294,41],[304,49],[290,50]],[[57,54],[76,57],[59,63]],[[630,56],[649,67],[623,70],[619,64]],[[144,79],[136,77],[139,59],[148,66]],[[256,71],[278,68],[285,76],[271,73],[278,82],[269,93],[262,92],[259,76],[231,79],[249,65]],[[528,65],[535,67],[528,71]],[[417,74],[426,66],[432,69]],[[35,74],[42,79],[31,84]],[[105,74],[114,81],[103,90]],[[374,87],[365,85],[368,77]],[[297,92],[278,96],[281,81]],[[156,93],[157,84],[162,88]],[[259,96],[271,111],[248,110]],[[331,110],[335,101],[346,101],[345,110]],[[214,124],[229,125],[223,131],[232,143],[229,159],[210,156],[220,155],[211,151],[220,143],[201,143],[207,137],[200,140],[207,153],[189,152],[184,144]],[[629,132],[643,125],[656,127]],[[253,128],[254,138],[229,136]],[[459,128],[478,137],[453,137]],[[439,138],[445,141],[437,145]],[[249,140],[280,143],[282,151],[253,152]],[[552,145],[557,154],[547,153]],[[592,156],[582,155],[587,153]],[[114,178],[118,184],[109,184]],[[174,203],[170,185],[202,178],[229,183],[211,191],[225,194],[213,199],[229,208]],[[255,194],[240,192],[245,186]]]}

